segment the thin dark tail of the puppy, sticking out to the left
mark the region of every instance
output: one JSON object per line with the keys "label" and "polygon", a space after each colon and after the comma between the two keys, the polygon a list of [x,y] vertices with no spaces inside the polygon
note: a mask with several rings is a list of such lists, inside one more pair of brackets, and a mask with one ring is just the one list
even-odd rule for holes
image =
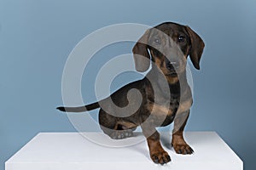
{"label": "thin dark tail of the puppy, sticking out to the left", "polygon": [[57,110],[60,111],[66,111],[66,112],[83,112],[83,111],[91,111],[99,108],[100,105],[98,102],[90,104],[90,105],[84,105],[79,107],[57,107]]}

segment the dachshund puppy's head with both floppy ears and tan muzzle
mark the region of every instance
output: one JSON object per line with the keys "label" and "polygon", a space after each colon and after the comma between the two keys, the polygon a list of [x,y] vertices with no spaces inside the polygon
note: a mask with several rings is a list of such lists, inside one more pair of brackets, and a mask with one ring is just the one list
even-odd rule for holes
{"label": "dachshund puppy's head with both floppy ears and tan muzzle", "polygon": [[196,69],[205,44],[189,26],[166,22],[148,29],[135,44],[132,52],[137,71],[147,71],[150,55],[166,77],[177,77],[186,69],[190,57]]}

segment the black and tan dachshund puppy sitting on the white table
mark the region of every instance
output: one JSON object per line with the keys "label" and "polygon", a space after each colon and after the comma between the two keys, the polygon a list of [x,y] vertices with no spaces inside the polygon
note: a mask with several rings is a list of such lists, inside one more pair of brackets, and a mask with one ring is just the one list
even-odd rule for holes
{"label": "black and tan dachshund puppy sitting on the white table", "polygon": [[[192,105],[191,90],[186,80],[186,63],[189,56],[199,70],[204,46],[201,37],[189,26],[172,22],[155,26],[148,29],[132,49],[137,71],[147,71],[152,63],[146,77],[125,85],[99,102],[57,109],[81,112],[101,108],[99,123],[103,132],[112,139],[130,137],[132,131],[141,126],[148,141],[150,157],[160,164],[171,161],[171,158],[162,148],[160,133],[155,127],[166,126],[174,121],[174,150],[178,154],[192,154],[193,150],[183,139],[183,129]],[[139,91],[140,95],[131,93],[133,89],[137,89],[134,92]],[[134,108],[138,109],[133,111]]]}

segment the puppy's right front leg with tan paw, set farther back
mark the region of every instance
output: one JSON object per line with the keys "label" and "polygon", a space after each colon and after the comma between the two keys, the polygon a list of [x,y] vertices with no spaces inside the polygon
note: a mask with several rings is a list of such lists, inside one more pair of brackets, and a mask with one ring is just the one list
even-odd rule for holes
{"label": "puppy's right front leg with tan paw, set farther back", "polygon": [[183,138],[183,130],[189,119],[189,111],[177,114],[174,119],[174,128],[172,131],[172,146],[177,154],[192,154],[194,150],[187,144]]}

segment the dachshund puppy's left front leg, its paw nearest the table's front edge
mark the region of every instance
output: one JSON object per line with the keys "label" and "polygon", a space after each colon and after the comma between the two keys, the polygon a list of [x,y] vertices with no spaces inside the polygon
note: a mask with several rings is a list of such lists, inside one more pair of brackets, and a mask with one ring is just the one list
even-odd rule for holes
{"label": "dachshund puppy's left front leg, its paw nearest the table's front edge", "polygon": [[163,165],[171,161],[171,157],[160,144],[160,133],[156,131],[155,127],[142,125],[142,128],[143,134],[147,138],[150,157],[154,163]]}

